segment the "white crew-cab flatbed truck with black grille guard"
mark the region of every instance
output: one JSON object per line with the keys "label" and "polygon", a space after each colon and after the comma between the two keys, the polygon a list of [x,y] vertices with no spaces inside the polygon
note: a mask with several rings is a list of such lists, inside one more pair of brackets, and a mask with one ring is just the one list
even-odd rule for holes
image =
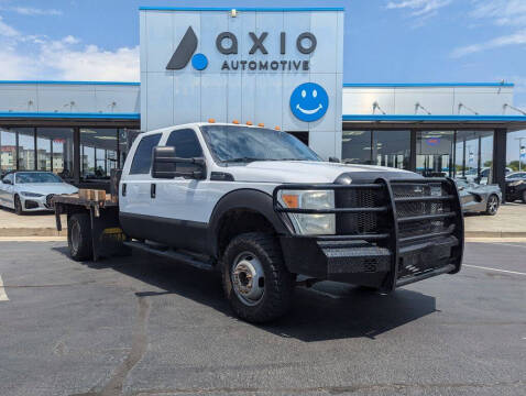
{"label": "white crew-cab flatbed truck with black grille guard", "polygon": [[[283,316],[297,284],[382,292],[460,271],[463,219],[451,179],[325,162],[288,133],[191,123],[139,135],[117,199],[55,198],[73,258],[122,244],[222,273],[234,312]],[[297,278],[302,275],[302,280]]]}

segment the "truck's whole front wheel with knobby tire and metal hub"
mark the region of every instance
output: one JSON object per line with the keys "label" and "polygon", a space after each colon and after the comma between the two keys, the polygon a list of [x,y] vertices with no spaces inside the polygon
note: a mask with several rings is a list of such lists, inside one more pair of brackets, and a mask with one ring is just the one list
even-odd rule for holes
{"label": "truck's whole front wheel with knobby tire and metal hub", "polygon": [[222,257],[222,279],[230,306],[246,321],[271,321],[291,308],[295,276],[285,267],[272,235],[250,232],[235,237]]}

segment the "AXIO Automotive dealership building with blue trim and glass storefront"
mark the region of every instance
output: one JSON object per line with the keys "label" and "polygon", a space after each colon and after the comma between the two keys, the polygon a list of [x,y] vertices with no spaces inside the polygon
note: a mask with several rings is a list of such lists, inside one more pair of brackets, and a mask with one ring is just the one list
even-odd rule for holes
{"label": "AXIO Automotive dealership building with blue trim and glass storefront", "polygon": [[106,186],[140,131],[213,119],[280,128],[350,164],[491,168],[503,186],[506,133],[526,129],[513,84],[347,84],[343,13],[141,8],[140,82],[0,81],[1,172]]}

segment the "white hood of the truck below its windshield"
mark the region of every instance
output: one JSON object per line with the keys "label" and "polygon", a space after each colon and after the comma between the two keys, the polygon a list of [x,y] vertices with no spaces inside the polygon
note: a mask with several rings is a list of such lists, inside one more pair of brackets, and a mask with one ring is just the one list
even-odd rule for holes
{"label": "white hood of the truck below its windshield", "polygon": [[[228,172],[237,182],[262,183],[333,183],[346,174],[361,179],[370,175],[377,177],[401,178],[414,177],[408,170],[373,165],[351,165],[310,161],[255,161],[246,165],[229,165]],[[381,176],[380,176],[381,175]]]}

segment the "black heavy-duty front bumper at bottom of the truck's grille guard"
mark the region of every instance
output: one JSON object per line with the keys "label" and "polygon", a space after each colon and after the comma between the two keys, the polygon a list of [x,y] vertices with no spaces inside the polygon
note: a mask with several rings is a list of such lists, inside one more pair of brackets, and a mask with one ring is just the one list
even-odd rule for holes
{"label": "black heavy-duty front bumper at bottom of the truck's grille guard", "polygon": [[288,270],[321,280],[390,289],[436,275],[452,273],[457,266],[452,249],[454,237],[442,237],[403,248],[398,265],[392,270],[394,252],[366,241],[343,238],[282,237],[283,255]]}

